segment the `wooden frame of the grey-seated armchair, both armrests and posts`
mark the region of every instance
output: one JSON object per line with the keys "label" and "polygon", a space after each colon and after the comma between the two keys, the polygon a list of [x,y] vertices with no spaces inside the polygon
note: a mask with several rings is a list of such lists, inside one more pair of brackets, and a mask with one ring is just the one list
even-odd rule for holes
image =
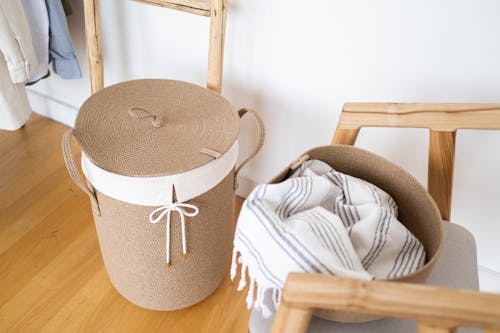
{"label": "wooden frame of the grey-seated armchair, both armrests and posts", "polygon": [[[456,131],[500,129],[500,104],[346,103],[332,143],[353,145],[362,127],[429,128],[428,189],[449,220]],[[500,332],[497,294],[308,273],[289,274],[272,332],[305,332],[315,308],[416,319],[421,333]]]}

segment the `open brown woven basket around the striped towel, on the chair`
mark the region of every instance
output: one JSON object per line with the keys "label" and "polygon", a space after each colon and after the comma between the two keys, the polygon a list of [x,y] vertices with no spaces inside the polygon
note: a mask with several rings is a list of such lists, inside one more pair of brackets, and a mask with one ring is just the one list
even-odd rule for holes
{"label": "open brown woven basket around the striped towel, on the chair", "polygon": [[[422,243],[426,252],[425,265],[412,274],[389,279],[408,283],[424,283],[439,256],[443,244],[439,209],[427,190],[404,169],[366,150],[346,145],[313,148],[276,175],[270,183],[278,183],[308,159],[317,159],[335,170],[370,182],[388,194],[398,205],[398,220]],[[356,313],[316,310],[315,316],[340,322],[365,322],[380,317]]]}

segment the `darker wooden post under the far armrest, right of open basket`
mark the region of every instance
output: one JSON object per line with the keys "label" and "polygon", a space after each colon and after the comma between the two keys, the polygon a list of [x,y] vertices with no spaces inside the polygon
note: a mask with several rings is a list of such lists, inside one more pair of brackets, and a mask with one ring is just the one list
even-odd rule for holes
{"label": "darker wooden post under the far armrest, right of open basket", "polygon": [[456,132],[430,131],[427,188],[446,221],[451,214],[455,136]]}

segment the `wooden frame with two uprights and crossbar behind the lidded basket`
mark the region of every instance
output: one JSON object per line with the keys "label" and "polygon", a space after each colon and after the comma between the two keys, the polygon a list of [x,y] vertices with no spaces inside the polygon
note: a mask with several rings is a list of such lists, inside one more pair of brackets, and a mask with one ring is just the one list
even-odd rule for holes
{"label": "wooden frame with two uprights and crossbar behind the lidded basket", "polygon": [[[207,88],[220,93],[222,89],[227,0],[135,1],[210,17]],[[83,2],[91,92],[96,93],[104,87],[100,0],[83,0]]]}

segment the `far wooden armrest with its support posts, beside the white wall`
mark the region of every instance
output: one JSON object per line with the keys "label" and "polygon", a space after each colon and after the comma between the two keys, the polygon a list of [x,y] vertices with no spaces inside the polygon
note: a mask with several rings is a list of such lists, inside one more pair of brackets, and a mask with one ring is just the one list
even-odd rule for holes
{"label": "far wooden armrest with its support posts, beside the white wall", "polygon": [[500,129],[500,104],[345,103],[332,143],[353,145],[362,127],[430,130],[427,188],[450,220],[458,129]]}

